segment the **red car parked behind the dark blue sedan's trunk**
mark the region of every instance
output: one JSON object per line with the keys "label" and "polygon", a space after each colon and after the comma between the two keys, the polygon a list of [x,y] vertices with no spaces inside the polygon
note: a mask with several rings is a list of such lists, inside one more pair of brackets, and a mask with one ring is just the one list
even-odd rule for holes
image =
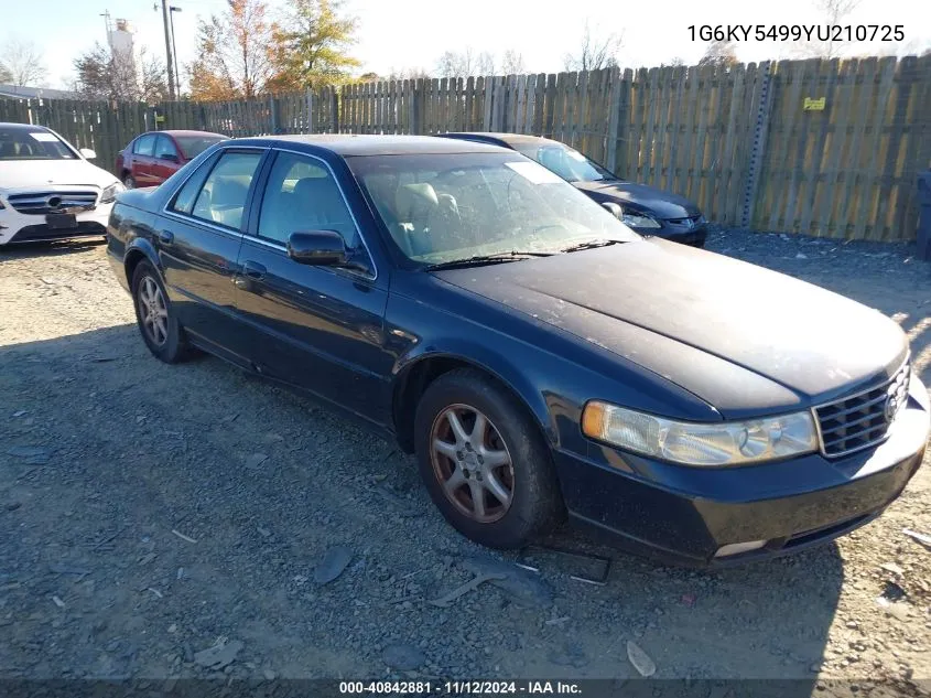
{"label": "red car parked behind the dark blue sedan's trunk", "polygon": [[116,172],[127,189],[158,186],[207,148],[221,140],[207,131],[150,131],[137,136],[117,155]]}

